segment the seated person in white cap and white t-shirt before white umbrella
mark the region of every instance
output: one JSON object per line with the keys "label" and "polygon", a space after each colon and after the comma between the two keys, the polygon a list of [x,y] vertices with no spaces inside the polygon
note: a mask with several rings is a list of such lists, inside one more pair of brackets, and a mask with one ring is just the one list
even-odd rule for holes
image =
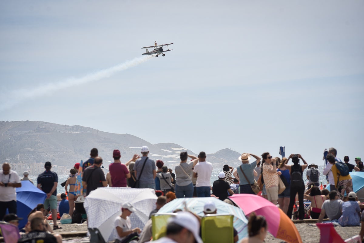
{"label": "seated person in white cap and white t-shirt before white umbrella", "polygon": [[140,234],[140,228],[131,228],[131,221],[129,216],[132,212],[135,212],[135,208],[131,205],[131,203],[126,202],[123,203],[121,208],[122,214],[116,217],[114,226],[116,228],[116,232],[118,233],[116,236],[115,242],[122,242],[127,236],[137,236]]}

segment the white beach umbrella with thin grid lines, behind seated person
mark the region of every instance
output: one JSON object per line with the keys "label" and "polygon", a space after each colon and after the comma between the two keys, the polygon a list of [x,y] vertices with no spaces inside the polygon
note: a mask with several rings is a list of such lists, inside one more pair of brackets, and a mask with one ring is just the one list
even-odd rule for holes
{"label": "white beach umbrella with thin grid lines, behind seated person", "polygon": [[136,212],[130,215],[131,227],[143,229],[155,208],[157,196],[153,189],[130,187],[100,187],[92,191],[84,202],[88,228],[98,228],[106,242],[114,240],[114,221],[121,214],[122,204],[130,202]]}

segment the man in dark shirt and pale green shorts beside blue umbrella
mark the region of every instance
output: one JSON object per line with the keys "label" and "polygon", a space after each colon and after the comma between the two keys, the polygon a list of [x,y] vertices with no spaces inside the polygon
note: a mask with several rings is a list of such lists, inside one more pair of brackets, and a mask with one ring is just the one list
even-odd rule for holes
{"label": "man in dark shirt and pale green shorts beside blue umbrella", "polygon": [[52,164],[47,161],[44,164],[46,171],[39,174],[37,178],[37,188],[47,194],[46,200],[44,200],[44,208],[51,208],[53,218],[53,229],[58,230],[61,227],[57,225],[57,185],[58,175],[56,172],[51,171]]}

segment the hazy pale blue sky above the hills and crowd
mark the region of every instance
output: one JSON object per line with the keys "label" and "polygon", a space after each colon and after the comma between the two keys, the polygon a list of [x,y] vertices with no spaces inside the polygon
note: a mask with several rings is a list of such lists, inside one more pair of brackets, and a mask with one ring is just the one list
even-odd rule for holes
{"label": "hazy pale blue sky above the hills and crowd", "polygon": [[[0,1],[0,120],[364,157],[364,1]],[[141,47],[174,43],[158,58]],[[354,163],[354,162],[353,162]]]}

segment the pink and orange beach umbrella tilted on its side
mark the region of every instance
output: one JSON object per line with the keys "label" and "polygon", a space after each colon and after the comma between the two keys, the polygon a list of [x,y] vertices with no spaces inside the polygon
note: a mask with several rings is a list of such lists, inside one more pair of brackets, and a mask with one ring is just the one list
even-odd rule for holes
{"label": "pink and orange beach umbrella tilted on its side", "polygon": [[247,217],[252,212],[264,216],[268,231],[274,237],[289,243],[302,243],[301,236],[292,220],[267,199],[253,194],[234,194],[229,198],[244,211]]}

